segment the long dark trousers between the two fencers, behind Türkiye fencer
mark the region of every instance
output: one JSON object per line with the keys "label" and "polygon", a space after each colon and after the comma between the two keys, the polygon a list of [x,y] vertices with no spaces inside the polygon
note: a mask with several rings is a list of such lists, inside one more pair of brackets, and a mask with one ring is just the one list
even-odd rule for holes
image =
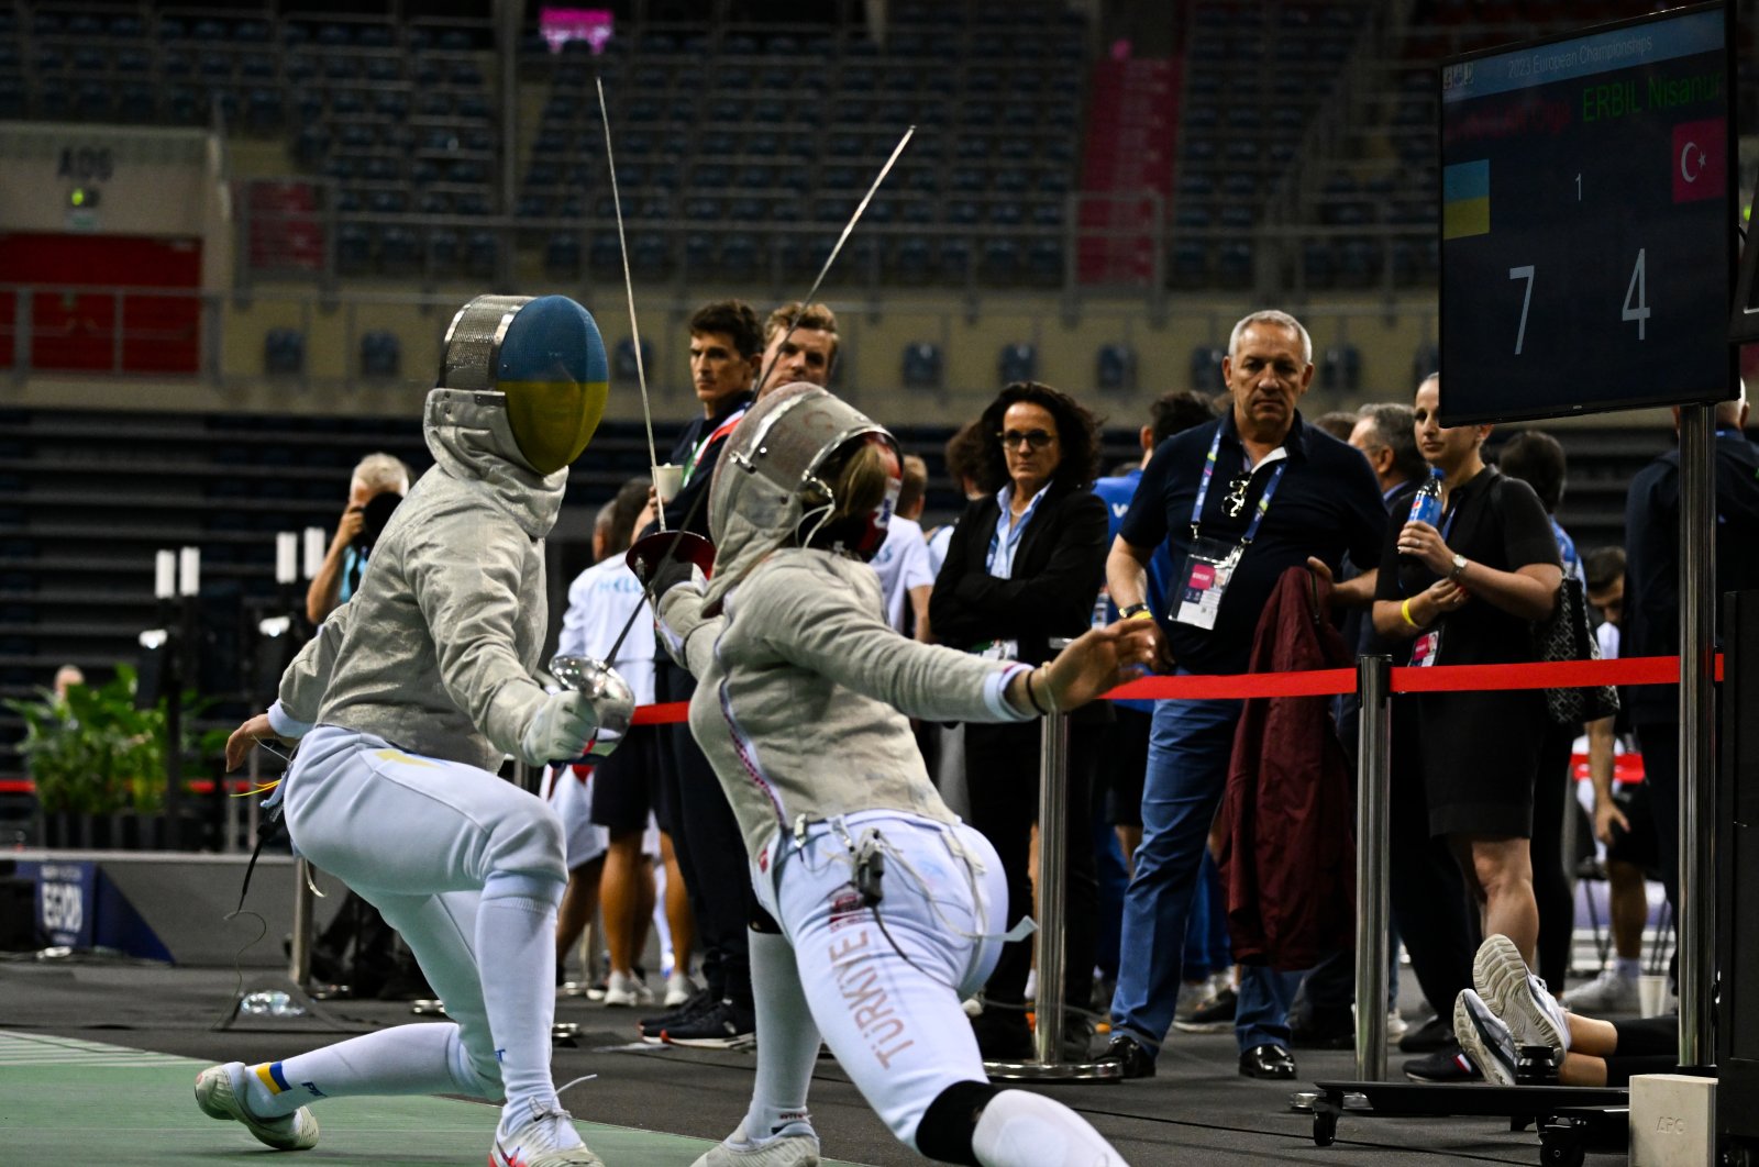
{"label": "long dark trousers between the two fencers, behind T\u00fcrkiye fencer", "polygon": [[[654,696],[688,701],[697,680],[670,659],[654,661]],[[726,803],[721,780],[704,757],[688,724],[667,726],[660,742],[660,780],[668,787],[663,801],[674,819],[672,851],[684,873],[690,910],[697,916],[702,946],[702,975],[719,997],[751,1007],[751,951],[746,924],[751,921],[751,870],[739,821]]]}

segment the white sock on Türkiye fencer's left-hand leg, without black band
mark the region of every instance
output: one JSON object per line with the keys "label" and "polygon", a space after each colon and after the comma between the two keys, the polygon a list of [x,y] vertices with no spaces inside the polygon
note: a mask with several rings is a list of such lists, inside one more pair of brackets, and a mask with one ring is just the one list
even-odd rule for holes
{"label": "white sock on T\u00fcrkiye fencer's left-hand leg, without black band", "polygon": [[772,931],[749,931],[751,982],[758,986],[758,1074],[746,1111],[746,1139],[804,1135],[813,1130],[806,1091],[818,1062],[818,1025],[800,989],[793,946]]}

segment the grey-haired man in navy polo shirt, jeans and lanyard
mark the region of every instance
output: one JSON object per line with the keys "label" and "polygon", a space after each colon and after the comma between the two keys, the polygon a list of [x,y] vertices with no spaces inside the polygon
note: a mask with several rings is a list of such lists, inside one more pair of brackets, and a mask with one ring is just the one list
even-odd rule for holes
{"label": "grey-haired man in navy polo shirt, jeans and lanyard", "polygon": [[[1163,443],[1106,559],[1124,617],[1152,617],[1163,659],[1179,673],[1244,673],[1258,617],[1291,566],[1335,573],[1349,552],[1379,562],[1386,508],[1360,452],[1302,422],[1312,339],[1281,311],[1235,325],[1223,376],[1233,408]],[[1166,545],[1173,576],[1164,610],[1147,606],[1147,566]],[[1376,573],[1333,589],[1367,605]],[[1105,1058],[1126,1077],[1154,1074],[1179,998],[1180,949],[1198,861],[1228,780],[1240,701],[1159,701],[1142,796],[1143,837],[1124,898],[1124,960]],[[1288,1009],[1300,977],[1247,967],[1235,1037],[1240,1072],[1295,1077]]]}

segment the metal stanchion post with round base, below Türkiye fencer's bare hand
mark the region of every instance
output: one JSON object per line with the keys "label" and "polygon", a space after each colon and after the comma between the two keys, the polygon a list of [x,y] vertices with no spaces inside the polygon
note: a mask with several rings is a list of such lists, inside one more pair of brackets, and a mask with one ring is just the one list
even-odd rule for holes
{"label": "metal stanchion post with round base, below T\u00fcrkiye fencer's bare hand", "polygon": [[[1062,650],[1068,640],[1054,638],[1050,647]],[[1033,1062],[987,1062],[983,1069],[996,1081],[1119,1081],[1124,1067],[1117,1063],[1062,1062],[1062,984],[1068,968],[1062,965],[1064,896],[1062,859],[1068,852],[1069,803],[1069,719],[1052,714],[1041,719],[1038,759],[1038,997],[1034,1000],[1036,1025]],[[1080,970],[1078,975],[1087,975]]]}

